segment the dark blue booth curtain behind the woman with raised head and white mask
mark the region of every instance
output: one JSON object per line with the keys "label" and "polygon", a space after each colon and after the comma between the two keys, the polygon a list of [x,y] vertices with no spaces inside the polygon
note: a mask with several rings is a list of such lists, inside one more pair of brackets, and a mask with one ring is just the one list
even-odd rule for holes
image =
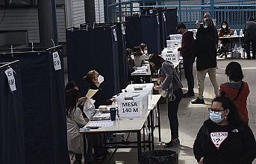
{"label": "dark blue booth curtain behind the woman with raised head and white mask", "polygon": [[116,30],[116,26],[66,31],[69,81],[78,82],[83,95],[88,89],[83,76],[90,70],[104,76],[101,88],[106,98],[120,92],[119,57],[113,29]]}

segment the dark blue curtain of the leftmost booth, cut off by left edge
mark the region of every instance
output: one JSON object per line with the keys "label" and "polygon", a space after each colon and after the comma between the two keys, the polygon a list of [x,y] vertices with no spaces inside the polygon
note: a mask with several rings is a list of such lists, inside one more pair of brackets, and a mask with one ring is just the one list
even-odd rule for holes
{"label": "dark blue curtain of the leftmost booth, cut off by left edge", "polygon": [[[16,91],[10,91],[4,71],[13,68]],[[22,79],[19,61],[0,62],[0,163],[25,164]]]}

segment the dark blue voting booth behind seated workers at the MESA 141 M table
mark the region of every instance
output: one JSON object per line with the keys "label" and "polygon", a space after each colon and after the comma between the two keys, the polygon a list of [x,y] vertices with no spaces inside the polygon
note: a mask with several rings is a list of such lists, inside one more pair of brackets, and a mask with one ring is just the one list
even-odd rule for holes
{"label": "dark blue voting booth behind seated workers at the MESA 141 M table", "polygon": [[145,43],[149,53],[160,53],[160,16],[125,16],[126,47]]}

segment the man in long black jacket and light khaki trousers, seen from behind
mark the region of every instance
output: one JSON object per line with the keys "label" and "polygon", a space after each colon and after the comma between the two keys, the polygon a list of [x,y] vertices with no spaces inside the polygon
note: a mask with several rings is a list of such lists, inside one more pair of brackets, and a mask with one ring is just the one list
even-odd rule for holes
{"label": "man in long black jacket and light khaki trousers, seen from behind", "polygon": [[203,99],[205,88],[205,76],[208,73],[210,82],[213,84],[214,94],[218,96],[219,85],[216,81],[216,47],[215,40],[210,36],[209,30],[205,27],[199,27],[196,33],[195,42],[196,54],[196,70],[199,85],[199,96],[195,99],[193,104],[205,104]]}

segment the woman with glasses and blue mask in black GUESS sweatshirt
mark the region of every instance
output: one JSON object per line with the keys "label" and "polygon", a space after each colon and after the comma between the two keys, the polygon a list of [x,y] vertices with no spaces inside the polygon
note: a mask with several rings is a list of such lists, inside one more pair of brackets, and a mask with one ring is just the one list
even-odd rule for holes
{"label": "woman with glasses and blue mask in black GUESS sweatshirt", "polygon": [[213,99],[210,119],[200,128],[193,146],[199,164],[252,164],[256,142],[249,125],[240,119],[226,96]]}

